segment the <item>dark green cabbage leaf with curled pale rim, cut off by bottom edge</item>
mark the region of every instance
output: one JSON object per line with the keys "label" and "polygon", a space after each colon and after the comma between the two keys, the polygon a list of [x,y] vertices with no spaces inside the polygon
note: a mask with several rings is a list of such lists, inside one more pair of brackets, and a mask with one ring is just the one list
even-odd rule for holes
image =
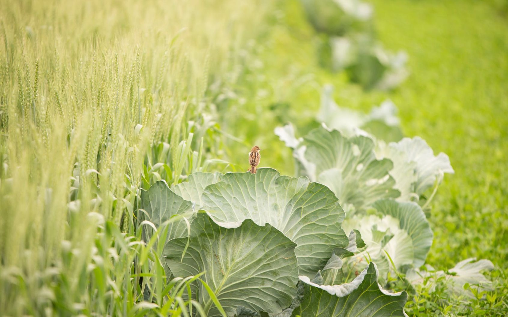
{"label": "dark green cabbage leaf with curled pale rim, cut off by bottom edge", "polygon": [[351,283],[319,285],[307,276],[300,276],[304,284],[303,299],[292,316],[407,316],[404,305],[407,293],[389,293],[377,283],[377,268],[373,262]]}

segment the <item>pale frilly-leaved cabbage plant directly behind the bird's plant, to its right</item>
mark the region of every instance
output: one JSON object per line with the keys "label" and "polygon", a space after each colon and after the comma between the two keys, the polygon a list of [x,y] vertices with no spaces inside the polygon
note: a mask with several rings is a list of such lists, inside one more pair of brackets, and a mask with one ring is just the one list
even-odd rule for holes
{"label": "pale frilly-leaved cabbage plant directly behind the bird's plant, to its right", "polygon": [[[322,105],[323,108],[323,105]],[[396,126],[398,118],[389,107],[368,115],[351,111],[346,133],[327,125],[301,138],[292,125],[275,133],[290,148],[296,173],[328,186],[346,210],[342,227],[357,229],[366,246],[344,262],[346,275],[362,271],[373,261],[381,281],[389,272],[406,272],[425,263],[433,234],[424,210],[424,194],[441,182],[444,172],[453,172],[446,154],[434,156],[421,138],[403,138],[388,145],[359,126],[382,120]],[[354,126],[354,123],[357,126]]]}

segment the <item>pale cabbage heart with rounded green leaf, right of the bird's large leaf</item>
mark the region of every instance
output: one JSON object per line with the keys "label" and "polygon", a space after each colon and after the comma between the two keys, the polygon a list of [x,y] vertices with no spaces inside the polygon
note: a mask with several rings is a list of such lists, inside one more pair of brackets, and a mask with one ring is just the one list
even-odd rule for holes
{"label": "pale cabbage heart with rounded green leaf, right of the bird's large leaf", "polygon": [[347,263],[349,271],[363,269],[372,259],[385,279],[390,267],[397,270],[425,263],[433,233],[422,208],[414,202],[392,199],[376,201],[373,215],[358,216],[344,222],[344,228],[356,228],[366,248]]}

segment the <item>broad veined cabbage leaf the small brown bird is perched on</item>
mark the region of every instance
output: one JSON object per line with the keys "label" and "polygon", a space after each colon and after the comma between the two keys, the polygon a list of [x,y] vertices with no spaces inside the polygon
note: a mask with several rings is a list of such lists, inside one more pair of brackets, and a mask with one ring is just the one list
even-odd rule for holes
{"label": "broad veined cabbage leaf the small brown bird is perched on", "polygon": [[202,208],[222,227],[236,228],[251,219],[280,230],[297,244],[300,275],[313,276],[333,248],[348,243],[337,197],[306,177],[281,176],[272,168],[226,173],[205,188],[202,200]]}

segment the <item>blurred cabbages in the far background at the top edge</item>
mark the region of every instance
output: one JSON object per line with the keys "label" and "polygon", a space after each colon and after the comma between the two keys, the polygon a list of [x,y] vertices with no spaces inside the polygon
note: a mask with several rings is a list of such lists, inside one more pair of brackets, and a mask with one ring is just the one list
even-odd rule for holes
{"label": "blurred cabbages in the far background at the top edge", "polygon": [[331,71],[345,71],[365,89],[389,90],[408,75],[407,54],[388,52],[375,39],[372,6],[359,0],[301,0],[320,33],[318,55]]}

